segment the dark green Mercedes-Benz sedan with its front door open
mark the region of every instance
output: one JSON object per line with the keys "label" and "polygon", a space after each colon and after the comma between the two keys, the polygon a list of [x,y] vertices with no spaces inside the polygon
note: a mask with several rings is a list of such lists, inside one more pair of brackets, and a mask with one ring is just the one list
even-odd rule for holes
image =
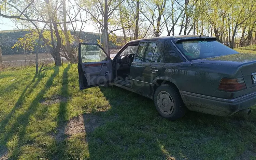
{"label": "dark green Mercedes-Benz sedan with its front door open", "polygon": [[[79,44],[80,89],[116,85],[154,100],[169,119],[186,110],[250,114],[256,103],[256,55],[207,36],[167,36],[128,42],[113,59],[100,45]],[[118,98],[118,97],[117,97]]]}

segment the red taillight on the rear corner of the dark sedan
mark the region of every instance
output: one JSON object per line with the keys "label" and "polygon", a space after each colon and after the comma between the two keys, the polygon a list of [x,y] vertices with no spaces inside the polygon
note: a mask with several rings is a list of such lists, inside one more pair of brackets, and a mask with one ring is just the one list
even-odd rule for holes
{"label": "red taillight on the rear corner of the dark sedan", "polygon": [[243,78],[223,78],[221,83],[219,83],[218,90],[219,91],[226,91],[226,92],[236,92],[240,90],[246,89],[244,79]]}

